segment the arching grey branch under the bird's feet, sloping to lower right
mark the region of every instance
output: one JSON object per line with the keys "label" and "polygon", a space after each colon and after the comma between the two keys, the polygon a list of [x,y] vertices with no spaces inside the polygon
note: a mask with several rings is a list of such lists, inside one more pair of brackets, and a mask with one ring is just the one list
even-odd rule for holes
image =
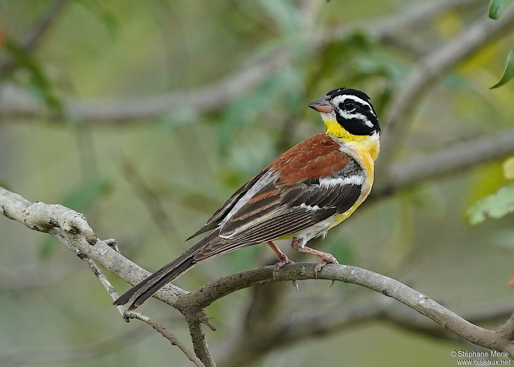
{"label": "arching grey branch under the bird's feet, sloping to lower right", "polygon": [[[275,279],[273,279],[272,268],[262,267],[215,279],[195,292],[181,296],[176,306],[181,312],[193,313],[227,294],[255,284],[315,278],[314,264],[296,263],[284,266],[276,273]],[[357,267],[334,264],[325,266],[318,273],[318,277],[357,284],[392,297],[473,344],[496,351],[507,351],[511,357],[514,357],[514,344],[511,340],[496,331],[473,325],[428,296],[395,279]]]}

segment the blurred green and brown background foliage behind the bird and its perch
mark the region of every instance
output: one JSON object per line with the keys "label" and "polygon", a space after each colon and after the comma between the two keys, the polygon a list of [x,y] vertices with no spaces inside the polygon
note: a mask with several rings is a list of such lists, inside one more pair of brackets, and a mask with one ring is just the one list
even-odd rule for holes
{"label": "blurred green and brown background foliage behind the bird and its perch", "polygon": [[[514,305],[514,82],[489,88],[514,21],[480,27],[511,10],[493,21],[478,0],[0,0],[0,185],[84,213],[154,271],[253,174],[323,131],[308,102],[359,89],[382,123],[375,191],[312,246],[497,328]],[[477,31],[484,40],[463,55],[448,48]],[[123,322],[53,237],[6,218],[0,233],[0,365],[190,363],[148,325]],[[174,283],[193,290],[272,255],[253,246]],[[209,306],[218,366],[455,365],[451,351],[475,348],[371,290],[299,285]],[[142,311],[190,345],[177,310],[151,300]]]}

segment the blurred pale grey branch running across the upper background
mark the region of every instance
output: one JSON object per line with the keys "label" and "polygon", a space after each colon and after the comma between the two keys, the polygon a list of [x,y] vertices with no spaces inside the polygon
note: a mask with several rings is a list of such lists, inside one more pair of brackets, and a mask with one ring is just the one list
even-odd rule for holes
{"label": "blurred pale grey branch running across the upper background", "polygon": [[[311,50],[317,50],[328,42],[344,39],[355,30],[371,34],[377,40],[388,40],[392,34],[419,27],[438,14],[452,8],[480,4],[479,0],[449,0],[415,4],[401,14],[394,13],[382,19],[345,25],[336,31],[322,32],[319,37],[310,37]],[[505,17],[505,14],[502,18]],[[261,59],[258,63],[243,65],[236,72],[197,89],[174,91],[151,97],[136,97],[111,100],[77,99],[63,97],[65,110],[82,121],[90,123],[140,121],[152,119],[189,106],[195,101],[194,113],[213,112],[222,109],[235,96],[252,90],[282,63],[289,62],[292,53],[281,49]],[[40,116],[44,114],[43,103],[30,96],[26,91],[13,85],[0,88],[0,114],[10,118]],[[52,119],[62,116],[53,115]]]}

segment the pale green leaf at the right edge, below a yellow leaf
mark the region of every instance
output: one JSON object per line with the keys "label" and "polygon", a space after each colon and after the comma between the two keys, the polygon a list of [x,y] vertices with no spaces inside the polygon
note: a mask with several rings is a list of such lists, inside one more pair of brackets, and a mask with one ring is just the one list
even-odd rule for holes
{"label": "pale green leaf at the right edge, below a yellow leaf", "polygon": [[470,224],[482,223],[487,218],[498,219],[514,212],[514,183],[510,183],[497,193],[486,196],[469,209],[467,219]]}

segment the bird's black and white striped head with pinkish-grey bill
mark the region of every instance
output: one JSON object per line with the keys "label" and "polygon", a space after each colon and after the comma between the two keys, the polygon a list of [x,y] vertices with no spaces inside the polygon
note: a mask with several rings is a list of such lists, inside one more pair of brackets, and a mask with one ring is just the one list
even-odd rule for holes
{"label": "bird's black and white striped head with pinkish-grey bill", "polygon": [[347,132],[354,135],[374,135],[380,132],[378,118],[370,97],[361,91],[338,88],[328,92],[308,107],[318,111],[326,122],[336,120]]}

